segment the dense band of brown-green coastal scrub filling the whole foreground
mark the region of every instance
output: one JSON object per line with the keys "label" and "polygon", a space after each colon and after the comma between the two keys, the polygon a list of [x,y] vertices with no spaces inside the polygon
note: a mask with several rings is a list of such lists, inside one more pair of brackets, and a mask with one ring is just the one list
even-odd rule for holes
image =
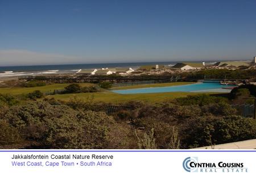
{"label": "dense band of brown-green coastal scrub filling the whole foreground", "polygon": [[256,121],[218,96],[122,102],[115,111],[94,98],[0,100],[1,148],[187,149],[256,138]]}

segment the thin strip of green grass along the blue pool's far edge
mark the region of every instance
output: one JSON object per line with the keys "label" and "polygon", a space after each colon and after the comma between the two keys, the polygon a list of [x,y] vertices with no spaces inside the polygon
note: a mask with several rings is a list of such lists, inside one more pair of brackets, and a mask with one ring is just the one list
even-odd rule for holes
{"label": "thin strip of green grass along the blue pool's far edge", "polygon": [[180,85],[188,85],[188,84],[192,84],[192,83],[196,83],[196,82],[152,83],[152,84],[143,84],[143,85],[113,87],[111,90],[123,90],[123,89],[130,89],[130,88],[148,88],[148,87],[180,86]]}

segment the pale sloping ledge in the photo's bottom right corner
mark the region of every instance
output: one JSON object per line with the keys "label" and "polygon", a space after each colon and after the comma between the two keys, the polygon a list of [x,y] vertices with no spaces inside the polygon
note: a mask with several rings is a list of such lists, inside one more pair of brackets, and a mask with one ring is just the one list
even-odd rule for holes
{"label": "pale sloping ledge in the photo's bottom right corner", "polygon": [[195,149],[256,149],[256,139],[230,142],[221,145],[197,147]]}

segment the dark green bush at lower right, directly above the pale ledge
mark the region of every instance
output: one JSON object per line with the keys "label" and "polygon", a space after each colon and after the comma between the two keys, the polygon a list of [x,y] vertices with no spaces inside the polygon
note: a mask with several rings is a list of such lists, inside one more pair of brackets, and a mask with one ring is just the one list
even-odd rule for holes
{"label": "dark green bush at lower right, directly above the pale ledge", "polygon": [[241,116],[198,117],[183,125],[184,148],[209,146],[256,138],[256,121]]}

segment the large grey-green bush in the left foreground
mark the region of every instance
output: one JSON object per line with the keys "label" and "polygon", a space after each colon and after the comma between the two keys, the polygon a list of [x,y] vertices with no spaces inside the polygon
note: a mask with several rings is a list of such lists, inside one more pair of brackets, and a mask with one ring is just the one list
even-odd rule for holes
{"label": "large grey-green bush in the left foreground", "polygon": [[3,120],[18,129],[31,147],[42,149],[106,149],[113,139],[110,127],[116,129],[113,117],[103,112],[73,110],[48,102],[13,106]]}

